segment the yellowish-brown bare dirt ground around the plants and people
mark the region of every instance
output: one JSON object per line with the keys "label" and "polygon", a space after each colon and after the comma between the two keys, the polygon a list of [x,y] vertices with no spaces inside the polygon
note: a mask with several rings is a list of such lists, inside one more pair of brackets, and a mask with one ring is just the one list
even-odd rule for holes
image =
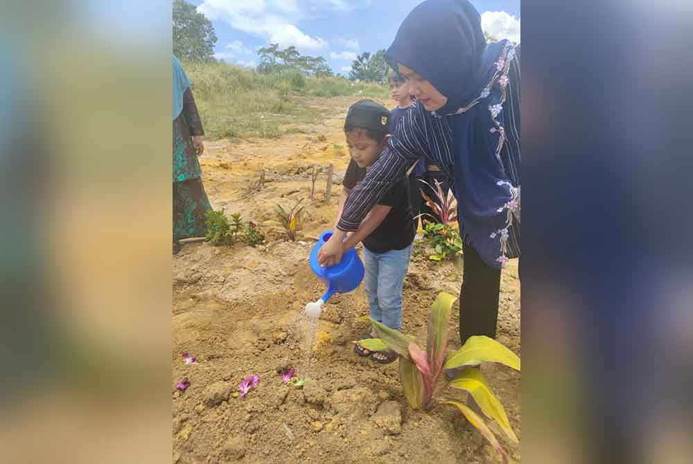
{"label": "yellowish-brown bare dirt ground around the plants and people", "polygon": [[[285,129],[295,133],[278,140],[206,143],[200,163],[213,208],[263,222],[276,219],[274,204],[286,208],[304,199],[307,206],[297,242],[268,233],[267,244],[257,248],[184,244],[173,257],[175,463],[502,462],[452,408],[411,411],[397,363],[381,366],[353,353],[351,341],[367,330],[356,321],[368,313],[362,287],[331,298],[315,332],[300,316],[304,305],[324,292],[310,271],[308,254],[334,221],[348,163],[342,123],[355,100],[305,100],[331,116],[322,125],[288,125]],[[324,202],[324,172],[311,202],[310,171],[328,163],[334,165],[336,183],[331,204]],[[254,190],[262,170],[265,184]],[[415,242],[404,287],[403,332],[422,342],[435,296],[459,294],[462,280],[459,263],[432,262],[429,251],[425,242]],[[458,321],[455,307],[450,350],[459,348]],[[516,260],[502,275],[498,340],[520,355]],[[184,352],[197,357],[198,364],[184,364]],[[282,384],[279,372],[287,367],[310,377],[303,389]],[[520,374],[502,366],[484,367],[484,373],[521,440]],[[238,383],[249,375],[261,376],[261,382],[238,398]],[[174,386],[183,377],[191,385],[181,393]],[[464,400],[465,394],[450,389],[444,397]],[[496,435],[511,461],[519,462],[520,447]]]}

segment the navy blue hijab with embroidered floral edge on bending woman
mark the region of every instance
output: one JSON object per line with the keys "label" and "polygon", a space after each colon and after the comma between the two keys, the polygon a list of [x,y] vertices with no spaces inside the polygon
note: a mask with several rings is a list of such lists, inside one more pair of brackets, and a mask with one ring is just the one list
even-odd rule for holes
{"label": "navy blue hijab with embroidered floral edge on bending woman", "polygon": [[407,66],[448,98],[431,115],[446,118],[452,130],[460,231],[496,268],[519,254],[520,112],[509,104],[519,105],[518,65],[511,69],[517,47],[487,46],[468,1],[426,0],[403,21],[385,55],[390,66]]}

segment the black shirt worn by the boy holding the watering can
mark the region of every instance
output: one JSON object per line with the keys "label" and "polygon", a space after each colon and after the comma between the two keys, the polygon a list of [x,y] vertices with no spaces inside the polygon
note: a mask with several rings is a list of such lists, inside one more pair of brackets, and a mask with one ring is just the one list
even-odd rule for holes
{"label": "black shirt worn by the boy holding the watering can", "polygon": [[[350,190],[366,177],[366,168],[359,168],[349,161],[343,185]],[[392,206],[383,222],[363,240],[363,246],[372,253],[385,253],[390,250],[401,250],[414,241],[414,214],[409,200],[409,184],[405,175],[380,199],[378,204]]]}

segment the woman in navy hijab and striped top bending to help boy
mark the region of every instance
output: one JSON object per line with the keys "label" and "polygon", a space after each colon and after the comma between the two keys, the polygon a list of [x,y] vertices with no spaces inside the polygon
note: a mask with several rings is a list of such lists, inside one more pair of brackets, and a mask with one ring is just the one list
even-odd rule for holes
{"label": "woman in navy hijab and striped top bending to help boy", "polygon": [[351,190],[337,230],[321,249],[339,262],[354,231],[419,157],[452,179],[464,276],[459,336],[495,337],[500,272],[520,256],[520,47],[486,44],[466,0],[426,0],[401,24],[386,53],[405,75],[416,106],[397,126],[382,157]]}

